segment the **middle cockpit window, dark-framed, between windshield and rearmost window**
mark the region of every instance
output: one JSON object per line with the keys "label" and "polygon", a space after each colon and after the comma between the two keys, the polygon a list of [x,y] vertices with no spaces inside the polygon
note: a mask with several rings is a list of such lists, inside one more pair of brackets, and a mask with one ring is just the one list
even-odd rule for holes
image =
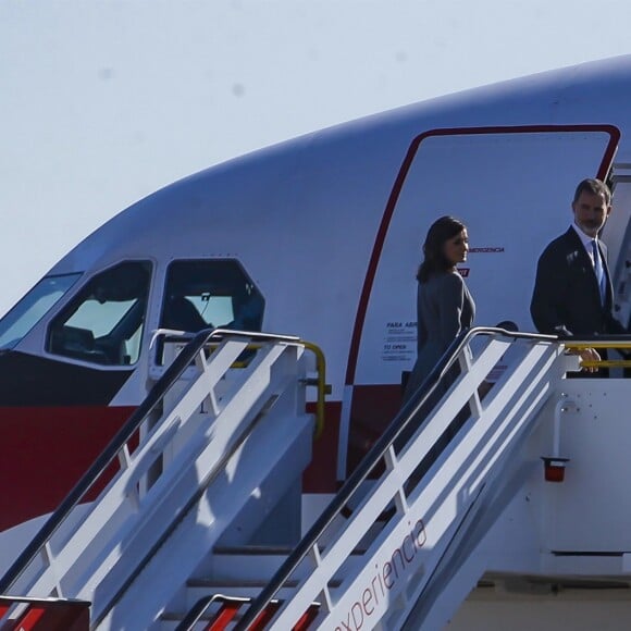
{"label": "middle cockpit window, dark-framed, between windshield and rearmost window", "polygon": [[126,262],[94,276],[51,322],[47,350],[108,366],[135,363],[151,279],[148,262]]}

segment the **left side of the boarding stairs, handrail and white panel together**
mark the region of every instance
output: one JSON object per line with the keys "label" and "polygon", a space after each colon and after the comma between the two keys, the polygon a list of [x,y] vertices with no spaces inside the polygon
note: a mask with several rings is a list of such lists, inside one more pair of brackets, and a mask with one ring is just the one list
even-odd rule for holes
{"label": "left side of the boarding stairs, handrail and white panel together", "polygon": [[14,596],[0,609],[3,630],[35,629],[23,622],[47,598],[91,603],[90,629],[160,626],[165,604],[199,578],[214,546],[264,543],[279,534],[275,519],[288,543],[299,540],[316,429],[305,389],[323,383],[308,351],[318,349],[290,336],[215,330],[177,350],[0,579],[0,594]]}

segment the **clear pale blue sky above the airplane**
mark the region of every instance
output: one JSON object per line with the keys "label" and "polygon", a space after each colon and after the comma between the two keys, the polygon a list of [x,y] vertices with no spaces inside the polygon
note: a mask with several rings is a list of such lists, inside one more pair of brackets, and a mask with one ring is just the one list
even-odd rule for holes
{"label": "clear pale blue sky above the airplane", "polygon": [[627,0],[1,0],[0,313],[137,199],[267,145],[631,52]]}

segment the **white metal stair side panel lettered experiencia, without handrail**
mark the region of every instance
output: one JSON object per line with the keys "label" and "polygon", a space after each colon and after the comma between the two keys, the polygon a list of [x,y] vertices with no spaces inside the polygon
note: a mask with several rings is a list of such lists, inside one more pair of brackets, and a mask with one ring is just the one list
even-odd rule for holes
{"label": "white metal stair side panel lettered experiencia, without handrail", "polygon": [[[409,628],[420,628],[431,609],[432,593],[448,592],[454,572],[445,571],[445,564],[454,556],[455,547],[459,546],[454,558],[458,562],[467,560],[483,539],[475,528],[488,527],[490,506],[495,519],[508,503],[503,497],[493,507],[490,499],[497,499],[503,484],[512,482],[511,472],[519,469],[521,460],[511,460],[511,456],[532,431],[539,410],[568,368],[558,345],[531,342],[480,403],[478,388],[510,344],[491,339],[477,357],[463,362],[470,368],[401,453],[391,447],[386,471],[352,515],[336,521],[312,547],[310,559],[304,561],[311,571],[274,619],[273,629],[290,628],[313,601],[324,603],[319,628],[347,624],[370,629],[384,624],[386,629],[399,629],[408,616]],[[462,352],[471,357],[469,348]],[[469,401],[473,418],[420,484],[409,491],[418,463]],[[386,524],[380,523],[380,516],[393,503],[395,517]],[[477,516],[479,510],[487,511],[485,519]],[[372,531],[370,536],[368,531]],[[467,549],[462,547],[465,533],[474,542]],[[484,569],[484,564],[479,564],[465,593],[459,592],[449,603],[451,611]],[[423,607],[416,608],[421,595]],[[443,623],[448,615],[445,613]]]}

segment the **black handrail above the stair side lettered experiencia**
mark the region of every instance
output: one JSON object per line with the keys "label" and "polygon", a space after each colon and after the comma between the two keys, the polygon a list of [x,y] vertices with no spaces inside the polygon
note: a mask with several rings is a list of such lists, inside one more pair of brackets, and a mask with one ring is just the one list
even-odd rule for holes
{"label": "black handrail above the stair side lettered experiencia", "polygon": [[[267,604],[274,597],[276,592],[289,579],[298,568],[302,559],[309,554],[322,534],[331,527],[338,517],[348,500],[358,491],[359,486],[367,480],[375,465],[386,456],[388,449],[396,438],[415,420],[417,413],[430,399],[436,387],[446,376],[449,369],[458,361],[460,352],[477,336],[504,336],[514,339],[530,339],[533,342],[557,342],[557,335],[545,335],[540,333],[522,333],[519,331],[507,331],[506,329],[493,326],[475,326],[460,333],[449,345],[435,368],[425,380],[419,385],[410,399],[401,407],[393,421],[387,425],[384,433],[373,444],[357,468],[346,479],[337,494],[333,497],[320,517],[316,520],[311,529],[296,545],[287,559],[281,565],[270,582],[261,590],[252,604],[245,611],[243,618],[235,626],[235,631],[247,631],[248,627],[257,619],[259,614],[267,607]],[[446,445],[443,445],[443,449]],[[436,454],[436,458],[440,454]]]}

